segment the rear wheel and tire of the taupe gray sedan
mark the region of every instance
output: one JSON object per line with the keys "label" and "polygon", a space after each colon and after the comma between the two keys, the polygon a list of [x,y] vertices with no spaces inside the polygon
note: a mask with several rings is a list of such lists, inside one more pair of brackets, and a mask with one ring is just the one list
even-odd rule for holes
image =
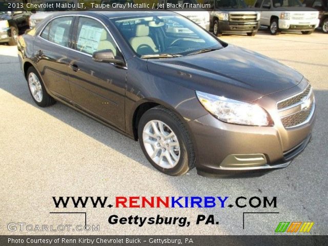
{"label": "rear wheel and tire of the taupe gray sedan", "polygon": [[34,67],[27,70],[26,80],[31,96],[38,106],[48,107],[55,104],[55,99],[47,93],[45,85]]}

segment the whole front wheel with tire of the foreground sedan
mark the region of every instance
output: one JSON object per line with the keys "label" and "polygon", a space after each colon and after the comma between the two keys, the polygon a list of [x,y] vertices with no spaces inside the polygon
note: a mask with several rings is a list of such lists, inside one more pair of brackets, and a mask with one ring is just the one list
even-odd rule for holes
{"label": "whole front wheel with tire of the foreground sedan", "polygon": [[179,176],[194,167],[189,132],[171,110],[157,106],[144,113],[139,120],[138,137],[145,156],[160,172]]}

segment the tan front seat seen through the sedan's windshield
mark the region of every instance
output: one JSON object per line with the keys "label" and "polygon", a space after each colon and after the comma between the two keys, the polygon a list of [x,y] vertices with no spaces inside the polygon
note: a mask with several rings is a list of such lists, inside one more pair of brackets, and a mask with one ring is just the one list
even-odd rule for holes
{"label": "tan front seat seen through the sedan's windshield", "polygon": [[130,38],[130,45],[140,55],[158,52],[153,39],[149,36],[149,27],[144,24],[136,26],[135,37]]}

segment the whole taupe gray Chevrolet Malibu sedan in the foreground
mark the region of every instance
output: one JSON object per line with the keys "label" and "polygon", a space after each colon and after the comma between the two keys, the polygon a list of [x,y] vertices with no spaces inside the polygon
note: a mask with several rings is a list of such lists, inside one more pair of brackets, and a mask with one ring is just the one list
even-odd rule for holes
{"label": "whole taupe gray Chevrolet Malibu sedan in the foreground", "polygon": [[57,14],[18,51],[38,106],[58,100],[139,140],[165,174],[260,175],[311,138],[306,78],[172,12]]}

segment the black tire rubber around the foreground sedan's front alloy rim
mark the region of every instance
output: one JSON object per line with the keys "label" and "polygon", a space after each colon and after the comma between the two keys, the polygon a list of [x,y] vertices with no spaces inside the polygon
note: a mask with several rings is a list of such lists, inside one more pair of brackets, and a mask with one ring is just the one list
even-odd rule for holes
{"label": "black tire rubber around the foreground sedan's front alloy rim", "polygon": [[[168,125],[175,135],[177,136],[179,145],[180,145],[180,159],[177,163],[177,165],[174,168],[171,169],[165,169],[160,166],[158,166],[148,155],[146,148],[144,146],[144,141],[142,138],[142,132],[144,131],[144,127],[150,120],[160,120],[164,122],[166,125]],[[144,152],[145,156],[149,160],[149,162],[154,166],[157,170],[159,170],[162,173],[171,175],[171,176],[177,176],[180,174],[183,174],[189,170],[189,156],[187,151],[187,137],[182,133],[182,131],[179,128],[179,122],[177,122],[171,115],[166,113],[162,110],[157,110],[156,108],[148,110],[142,117],[140,118],[139,125],[138,125],[138,137],[139,137],[139,143],[140,147],[142,149],[142,152]],[[185,171],[184,171],[185,170]],[[187,171],[186,171],[187,170]]]}

